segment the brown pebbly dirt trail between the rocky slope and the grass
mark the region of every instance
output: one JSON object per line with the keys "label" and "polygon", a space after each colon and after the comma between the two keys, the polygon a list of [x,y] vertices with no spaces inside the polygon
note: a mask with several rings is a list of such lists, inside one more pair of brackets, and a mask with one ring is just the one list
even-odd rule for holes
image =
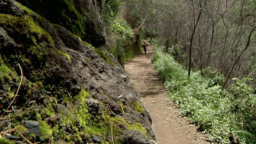
{"label": "brown pebbly dirt trail between the rocky slope and the grass", "polygon": [[141,52],[125,62],[124,68],[150,111],[158,144],[210,144],[186,117],[180,116],[179,109],[168,97],[167,90],[162,88],[163,83],[152,67],[152,46],[148,46],[147,51],[147,54]]}

